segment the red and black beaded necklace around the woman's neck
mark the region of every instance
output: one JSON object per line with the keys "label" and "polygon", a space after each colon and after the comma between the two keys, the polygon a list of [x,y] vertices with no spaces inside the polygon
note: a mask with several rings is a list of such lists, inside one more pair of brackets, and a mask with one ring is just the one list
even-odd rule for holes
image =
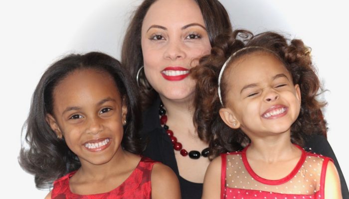
{"label": "red and black beaded necklace around the woman's neck", "polygon": [[164,125],[164,129],[167,133],[167,135],[170,137],[172,144],[174,146],[174,150],[179,151],[180,155],[182,156],[187,156],[189,155],[189,157],[191,159],[199,159],[200,156],[203,157],[207,157],[209,154],[209,148],[205,148],[201,151],[201,153],[199,151],[189,151],[189,153],[182,148],[182,144],[180,142],[177,142],[177,138],[174,137],[174,132],[172,130],[169,129],[169,126],[166,125],[167,122],[167,115],[166,115],[166,110],[164,109],[164,104],[163,102],[160,103],[160,107],[159,107],[159,115],[160,115],[160,124]]}

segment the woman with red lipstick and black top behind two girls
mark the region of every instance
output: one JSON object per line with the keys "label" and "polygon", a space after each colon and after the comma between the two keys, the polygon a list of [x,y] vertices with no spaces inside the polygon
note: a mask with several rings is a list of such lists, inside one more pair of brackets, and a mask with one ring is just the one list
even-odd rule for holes
{"label": "woman with red lipstick and black top behind two girls", "polygon": [[[204,156],[212,137],[201,132],[205,122],[193,122],[195,82],[188,70],[209,54],[214,38],[226,31],[231,31],[229,16],[217,0],[144,0],[123,43],[122,62],[137,79],[142,97],[144,155],[174,170],[183,199],[201,197],[209,164]],[[323,142],[323,148],[313,148],[314,152],[337,162],[324,136],[311,142]]]}

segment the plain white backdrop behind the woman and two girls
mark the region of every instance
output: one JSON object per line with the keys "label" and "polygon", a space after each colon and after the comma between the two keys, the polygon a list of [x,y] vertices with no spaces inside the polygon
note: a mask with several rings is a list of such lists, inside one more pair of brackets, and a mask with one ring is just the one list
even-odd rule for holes
{"label": "plain white backdrop behind the woman and two girls", "polygon": [[[21,127],[44,70],[69,53],[102,51],[120,58],[123,35],[141,0],[12,0],[0,2],[1,194],[44,198],[17,156]],[[328,101],[328,139],[349,180],[348,46],[344,1],[221,0],[235,28],[274,30],[312,47]]]}

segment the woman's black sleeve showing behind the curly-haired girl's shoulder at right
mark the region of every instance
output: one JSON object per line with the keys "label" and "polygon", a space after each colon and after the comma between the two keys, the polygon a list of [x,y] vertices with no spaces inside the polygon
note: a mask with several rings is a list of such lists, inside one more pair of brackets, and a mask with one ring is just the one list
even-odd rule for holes
{"label": "woman's black sleeve showing behind the curly-haired girl's shoulder at right", "polygon": [[346,180],[344,179],[344,176],[343,176],[341,167],[337,161],[336,155],[333,152],[332,147],[328,142],[328,140],[326,139],[326,137],[324,135],[319,135],[319,134],[311,135],[306,138],[305,147],[311,148],[312,152],[327,156],[334,161],[340,180],[341,180],[342,196],[344,199],[349,199],[349,191],[348,191]]}

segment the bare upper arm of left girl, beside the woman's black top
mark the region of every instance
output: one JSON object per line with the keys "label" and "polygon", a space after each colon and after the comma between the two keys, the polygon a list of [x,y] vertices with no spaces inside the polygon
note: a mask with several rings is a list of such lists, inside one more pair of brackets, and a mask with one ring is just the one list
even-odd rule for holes
{"label": "bare upper arm of left girl, beside the woman's black top", "polygon": [[178,178],[170,167],[154,164],[151,178],[152,199],[180,199]]}

